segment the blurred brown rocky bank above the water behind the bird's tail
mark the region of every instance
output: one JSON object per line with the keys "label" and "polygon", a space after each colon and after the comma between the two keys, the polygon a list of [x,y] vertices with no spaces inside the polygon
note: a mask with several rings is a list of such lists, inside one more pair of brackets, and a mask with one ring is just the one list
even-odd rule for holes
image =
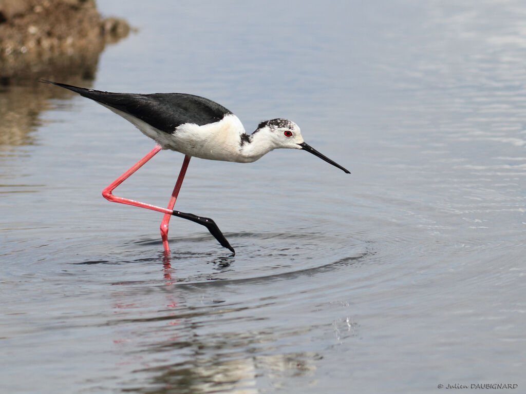
{"label": "blurred brown rocky bank above the water behind the bird's tail", "polygon": [[0,85],[40,77],[93,79],[107,43],[128,35],[95,0],[0,0]]}

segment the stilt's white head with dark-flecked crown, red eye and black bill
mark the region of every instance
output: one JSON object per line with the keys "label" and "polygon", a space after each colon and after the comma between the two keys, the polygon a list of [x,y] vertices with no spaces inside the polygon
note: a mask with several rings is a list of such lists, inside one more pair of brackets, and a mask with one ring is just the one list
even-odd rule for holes
{"label": "stilt's white head with dark-flecked crown, red eye and black bill", "polygon": [[341,165],[333,162],[325,155],[321,154],[316,149],[307,144],[303,137],[301,137],[301,132],[298,125],[296,125],[296,123],[291,120],[281,118],[265,120],[264,122],[259,123],[256,131],[265,132],[269,142],[274,144],[274,147],[271,149],[290,148],[306,150],[320,159],[325,160],[327,163],[338,167],[340,170],[348,174],[350,173],[349,170],[341,167]]}

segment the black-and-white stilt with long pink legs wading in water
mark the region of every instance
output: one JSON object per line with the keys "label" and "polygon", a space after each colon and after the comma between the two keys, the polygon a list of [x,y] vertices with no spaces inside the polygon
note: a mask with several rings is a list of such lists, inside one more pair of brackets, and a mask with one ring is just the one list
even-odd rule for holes
{"label": "black-and-white stilt with long pink legs wading in water", "polygon": [[[77,92],[109,108],[117,115],[133,123],[146,136],[154,139],[157,146],[133,167],[110,183],[102,192],[103,196],[114,202],[139,206],[165,215],[160,231],[165,254],[168,246],[168,222],[172,215],[202,224],[219,243],[235,253],[216,223],[208,217],[175,211],[174,204],[183,183],[188,162],[192,156],[222,161],[250,163],[277,148],[303,149],[340,170],[350,173],[310,147],[301,137],[296,123],[287,119],[271,119],[259,123],[252,134],[246,134],[241,121],[225,107],[204,97],[181,93],[132,94],[111,93],[93,89],[79,88],[41,80]],[[175,184],[167,208],[129,200],[114,195],[113,190],[150,160],[161,149],[171,149],[185,154],[183,167]]]}

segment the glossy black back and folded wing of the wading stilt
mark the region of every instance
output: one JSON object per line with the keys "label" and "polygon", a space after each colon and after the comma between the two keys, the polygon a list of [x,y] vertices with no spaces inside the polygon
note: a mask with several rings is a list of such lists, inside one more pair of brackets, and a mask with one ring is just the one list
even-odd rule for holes
{"label": "glossy black back and folded wing of the wading stilt", "polygon": [[46,80],[42,80],[42,82],[72,90],[81,96],[129,113],[129,115],[167,133],[173,133],[174,129],[183,123],[196,123],[203,126],[207,123],[217,122],[225,115],[232,113],[215,101],[185,93],[155,93],[150,95],[112,93]]}

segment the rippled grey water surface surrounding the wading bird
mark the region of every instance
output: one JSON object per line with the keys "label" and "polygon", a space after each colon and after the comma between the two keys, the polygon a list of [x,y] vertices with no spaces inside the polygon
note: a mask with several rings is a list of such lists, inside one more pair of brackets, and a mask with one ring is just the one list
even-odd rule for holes
{"label": "rippled grey water surface surrounding the wading bird", "polygon": [[[526,392],[526,4],[99,8],[138,32],[91,87],[205,96],[248,132],[289,118],[352,174],[194,158],[177,209],[237,254],[174,218],[164,259],[161,214],[100,196],[153,141],[28,88],[38,110],[20,99],[0,145],[0,391]],[[182,161],[160,152],[116,194],[165,205]]]}

